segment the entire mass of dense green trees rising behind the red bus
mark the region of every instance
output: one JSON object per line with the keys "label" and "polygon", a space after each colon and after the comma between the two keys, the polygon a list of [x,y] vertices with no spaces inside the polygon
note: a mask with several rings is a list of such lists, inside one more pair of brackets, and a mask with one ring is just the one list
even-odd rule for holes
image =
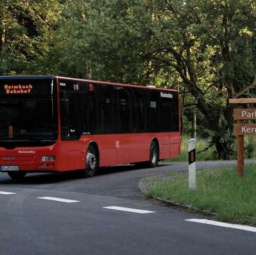
{"label": "entire mass of dense green trees rising behind the red bus", "polygon": [[253,0],[2,0],[0,75],[177,88],[185,127],[195,111],[217,157],[229,159],[228,98],[256,84],[255,25]]}

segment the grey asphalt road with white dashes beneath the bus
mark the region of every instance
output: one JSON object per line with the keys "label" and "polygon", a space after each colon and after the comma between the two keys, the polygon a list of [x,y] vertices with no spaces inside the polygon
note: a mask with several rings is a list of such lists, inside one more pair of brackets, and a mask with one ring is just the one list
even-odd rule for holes
{"label": "grey asphalt road with white dashes beneath the bus", "polygon": [[[223,162],[197,168],[217,164]],[[143,200],[141,178],[187,168],[116,166],[90,179],[71,172],[12,180],[0,173],[1,254],[255,254],[255,228],[188,221],[211,218]]]}

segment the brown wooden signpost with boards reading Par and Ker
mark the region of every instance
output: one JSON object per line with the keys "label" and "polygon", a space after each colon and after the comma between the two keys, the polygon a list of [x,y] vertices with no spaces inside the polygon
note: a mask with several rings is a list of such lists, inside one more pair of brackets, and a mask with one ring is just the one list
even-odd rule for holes
{"label": "brown wooden signpost with boards reading Par and Ker", "polygon": [[230,104],[237,104],[234,109],[234,134],[237,135],[237,174],[244,176],[244,136],[256,135],[256,124],[247,124],[244,120],[256,120],[256,109],[245,109],[246,104],[256,104],[256,98],[229,99]]}

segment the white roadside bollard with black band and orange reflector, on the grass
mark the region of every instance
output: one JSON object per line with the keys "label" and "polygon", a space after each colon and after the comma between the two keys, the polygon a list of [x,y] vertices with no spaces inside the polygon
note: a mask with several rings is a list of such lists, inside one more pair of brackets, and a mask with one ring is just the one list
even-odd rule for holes
{"label": "white roadside bollard with black band and orange reflector, on the grass", "polygon": [[196,190],[196,140],[188,141],[188,188]]}

